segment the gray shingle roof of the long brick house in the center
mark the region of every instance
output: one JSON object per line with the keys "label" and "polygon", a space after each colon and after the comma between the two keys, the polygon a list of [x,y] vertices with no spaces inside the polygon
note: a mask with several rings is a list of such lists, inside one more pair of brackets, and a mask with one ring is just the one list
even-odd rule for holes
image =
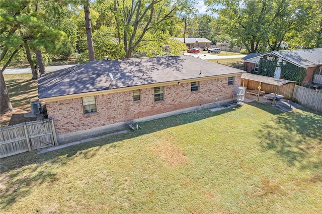
{"label": "gray shingle roof of the long brick house in the center", "polygon": [[110,86],[116,89],[244,72],[193,56],[92,61],[43,75],[38,79],[38,94],[47,98],[106,90],[111,83],[109,73],[114,78],[121,75]]}

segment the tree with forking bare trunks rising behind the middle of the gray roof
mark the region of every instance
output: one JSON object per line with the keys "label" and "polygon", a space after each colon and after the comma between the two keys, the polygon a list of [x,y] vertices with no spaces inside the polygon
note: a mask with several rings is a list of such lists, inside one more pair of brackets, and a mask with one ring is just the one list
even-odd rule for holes
{"label": "tree with forking bare trunks rising behind the middle of the gray roof", "polygon": [[123,1],[114,0],[111,5],[114,13],[117,38],[123,43],[125,58],[131,58],[132,53],[142,43],[151,38],[144,38],[151,29],[172,19],[177,12],[192,6],[190,0],[178,1]]}

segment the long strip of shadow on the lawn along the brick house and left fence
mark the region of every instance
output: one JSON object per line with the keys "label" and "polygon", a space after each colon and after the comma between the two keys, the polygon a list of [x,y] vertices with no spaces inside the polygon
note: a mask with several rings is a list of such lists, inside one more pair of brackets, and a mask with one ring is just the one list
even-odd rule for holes
{"label": "long strip of shadow on the lawn along the brick house and left fence", "polygon": [[[181,115],[170,116],[167,118],[156,119],[153,121],[142,122],[139,125],[142,127],[139,130],[129,131],[122,135],[113,135],[108,138],[82,143],[74,146],[69,146],[63,149],[55,150],[37,155],[37,151],[25,152],[18,155],[6,157],[1,159],[1,172],[7,172],[16,169],[13,173],[8,173],[3,177],[3,180],[15,180],[10,182],[13,186],[6,186],[5,190],[1,189],[2,207],[11,206],[16,197],[21,195],[28,195],[32,191],[30,188],[19,189],[19,186],[39,185],[43,182],[53,183],[56,180],[55,169],[57,167],[67,164],[77,155],[82,155],[84,160],[97,155],[105,146],[104,149],[109,151],[119,147],[117,142],[136,138],[142,135],[147,135],[160,130],[185,125],[218,116],[221,114],[233,112],[239,109],[240,106],[227,108],[217,112],[211,112],[209,109],[190,112]],[[28,167],[24,167],[28,166]],[[28,170],[28,172],[26,171]],[[30,176],[21,177],[20,174],[30,174]]]}

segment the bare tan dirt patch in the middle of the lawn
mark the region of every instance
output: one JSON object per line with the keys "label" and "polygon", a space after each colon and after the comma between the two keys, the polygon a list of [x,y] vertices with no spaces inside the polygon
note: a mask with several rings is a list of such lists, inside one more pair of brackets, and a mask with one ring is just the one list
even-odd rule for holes
{"label": "bare tan dirt patch in the middle of the lawn", "polygon": [[186,154],[171,142],[163,142],[150,148],[153,155],[159,156],[167,165],[177,167],[189,162]]}

